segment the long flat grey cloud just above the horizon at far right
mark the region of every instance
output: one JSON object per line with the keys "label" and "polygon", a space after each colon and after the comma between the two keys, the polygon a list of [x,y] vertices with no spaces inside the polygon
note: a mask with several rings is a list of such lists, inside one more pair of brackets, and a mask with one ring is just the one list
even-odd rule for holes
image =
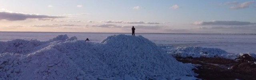
{"label": "long flat grey cloud just above the horizon at far right", "polygon": [[211,22],[194,22],[194,25],[254,25],[252,22],[241,21],[211,21]]}

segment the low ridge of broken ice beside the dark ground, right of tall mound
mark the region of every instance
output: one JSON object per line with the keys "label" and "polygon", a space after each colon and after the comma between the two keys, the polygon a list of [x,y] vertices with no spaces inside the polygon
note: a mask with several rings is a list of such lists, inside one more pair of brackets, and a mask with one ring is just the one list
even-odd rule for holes
{"label": "low ridge of broken ice beside the dark ground, right of tall mound", "polygon": [[168,54],[172,54],[174,57],[220,57],[220,58],[228,58],[228,59],[235,59],[238,54],[229,54],[225,50],[220,48],[202,48],[199,46],[192,46],[192,47],[177,47],[174,48],[170,45],[160,45],[162,50],[166,51]]}

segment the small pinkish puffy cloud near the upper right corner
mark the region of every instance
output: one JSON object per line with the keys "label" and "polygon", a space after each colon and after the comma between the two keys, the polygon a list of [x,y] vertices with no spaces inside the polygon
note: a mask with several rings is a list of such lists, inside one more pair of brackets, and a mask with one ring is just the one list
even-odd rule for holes
{"label": "small pinkish puffy cloud near the upper right corner", "polygon": [[244,2],[241,4],[236,4],[235,6],[231,6],[230,9],[238,10],[238,9],[244,9],[248,8],[250,4],[254,4],[254,1]]}

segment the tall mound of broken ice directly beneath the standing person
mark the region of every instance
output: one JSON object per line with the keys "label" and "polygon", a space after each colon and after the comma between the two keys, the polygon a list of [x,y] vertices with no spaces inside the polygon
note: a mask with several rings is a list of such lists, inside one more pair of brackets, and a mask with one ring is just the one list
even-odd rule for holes
{"label": "tall mound of broken ice directly beneath the standing person", "polygon": [[190,75],[190,64],[182,64],[142,36],[114,35],[100,42],[100,60],[116,70],[118,76],[136,78]]}

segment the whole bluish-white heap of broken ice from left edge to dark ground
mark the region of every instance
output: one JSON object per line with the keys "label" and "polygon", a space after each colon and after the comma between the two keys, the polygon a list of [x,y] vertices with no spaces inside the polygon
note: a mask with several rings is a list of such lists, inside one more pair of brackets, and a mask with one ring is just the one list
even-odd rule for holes
{"label": "whole bluish-white heap of broken ice from left edge to dark ground", "polygon": [[142,36],[0,42],[0,80],[195,80],[192,68]]}

